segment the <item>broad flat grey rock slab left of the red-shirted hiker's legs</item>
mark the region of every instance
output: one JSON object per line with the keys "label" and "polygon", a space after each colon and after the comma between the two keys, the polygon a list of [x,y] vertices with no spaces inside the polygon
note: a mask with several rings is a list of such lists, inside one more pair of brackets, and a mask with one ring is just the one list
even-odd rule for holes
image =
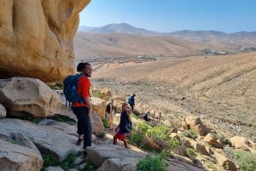
{"label": "broad flat grey rock slab left of the red-shirted hiker's legs", "polygon": [[[62,162],[68,154],[77,154],[81,150],[81,146],[76,145],[76,127],[68,123],[63,123],[63,128],[55,128],[49,124],[44,126],[20,119],[3,118],[0,120],[0,128],[1,139],[10,142],[15,140],[35,154],[38,154],[38,150],[41,154],[49,154],[56,163]],[[60,130],[65,128],[67,132]]]}

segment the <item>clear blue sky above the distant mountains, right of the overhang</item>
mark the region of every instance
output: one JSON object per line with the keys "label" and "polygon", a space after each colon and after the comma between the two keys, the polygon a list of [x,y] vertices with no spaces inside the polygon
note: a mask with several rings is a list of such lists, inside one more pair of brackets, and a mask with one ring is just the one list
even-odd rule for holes
{"label": "clear blue sky above the distant mountains, right of the overhang", "polygon": [[79,26],[127,23],[150,31],[256,31],[256,0],[91,0]]}

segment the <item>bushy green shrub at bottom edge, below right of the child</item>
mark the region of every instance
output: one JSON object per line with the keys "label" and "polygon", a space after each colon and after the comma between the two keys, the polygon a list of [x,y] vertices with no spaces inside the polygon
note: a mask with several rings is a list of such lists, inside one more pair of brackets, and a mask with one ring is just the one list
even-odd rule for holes
{"label": "bushy green shrub at bottom edge, below right of the child", "polygon": [[168,163],[163,161],[165,156],[161,153],[156,157],[147,156],[137,162],[137,171],[166,171]]}

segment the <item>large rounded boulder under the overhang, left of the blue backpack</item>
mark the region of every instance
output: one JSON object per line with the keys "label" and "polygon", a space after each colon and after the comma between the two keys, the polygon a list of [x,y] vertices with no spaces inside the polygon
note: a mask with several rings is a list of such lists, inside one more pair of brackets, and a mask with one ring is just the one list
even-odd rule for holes
{"label": "large rounded boulder under the overhang, left of the blue backpack", "polygon": [[7,109],[7,115],[28,113],[34,117],[50,117],[60,114],[73,118],[60,95],[34,78],[0,79],[0,103]]}

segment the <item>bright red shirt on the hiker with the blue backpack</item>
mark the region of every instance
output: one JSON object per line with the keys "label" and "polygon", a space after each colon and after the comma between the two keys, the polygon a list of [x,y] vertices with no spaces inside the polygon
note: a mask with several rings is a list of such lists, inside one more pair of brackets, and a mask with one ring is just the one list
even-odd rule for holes
{"label": "bright red shirt on the hiker with the blue backpack", "polygon": [[[90,79],[88,77],[81,76],[79,78],[78,92],[79,94],[81,94],[83,99],[86,97],[90,97],[89,89],[90,89]],[[72,106],[80,107],[80,106],[89,106],[89,105],[85,103],[73,102]]]}

